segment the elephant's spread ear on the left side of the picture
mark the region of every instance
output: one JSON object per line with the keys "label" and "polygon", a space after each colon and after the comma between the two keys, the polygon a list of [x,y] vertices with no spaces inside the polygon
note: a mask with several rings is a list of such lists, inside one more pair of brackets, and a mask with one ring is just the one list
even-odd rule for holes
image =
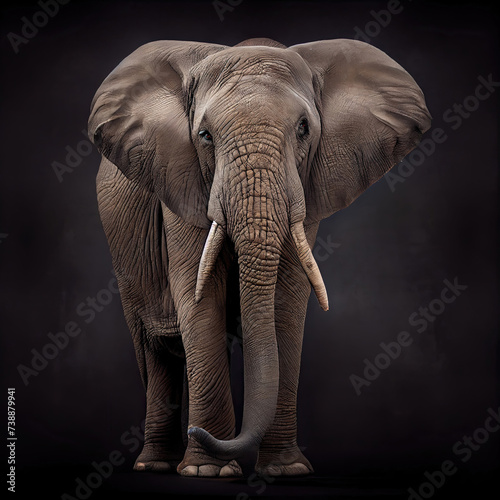
{"label": "elephant's spread ear on the left side of the picture", "polygon": [[190,68],[225,48],[179,41],[143,45],[104,80],[89,118],[89,137],[99,152],[198,227],[210,226],[209,186],[191,141],[184,89]]}

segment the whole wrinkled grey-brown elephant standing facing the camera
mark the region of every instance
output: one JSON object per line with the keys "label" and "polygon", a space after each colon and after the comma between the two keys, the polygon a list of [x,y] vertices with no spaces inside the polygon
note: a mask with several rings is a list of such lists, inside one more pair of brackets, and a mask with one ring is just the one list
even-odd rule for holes
{"label": "whole wrinkled grey-brown elephant standing facing the camera", "polygon": [[[411,76],[353,40],[153,42],[106,78],[89,135],[103,155],[99,210],[147,392],[135,469],[239,475],[236,459],[258,449],[261,473],[312,472],[296,440],[311,284],[324,309],[328,300],[310,247],[319,221],[429,126]],[[235,437],[226,305],[238,289],[245,397]]]}

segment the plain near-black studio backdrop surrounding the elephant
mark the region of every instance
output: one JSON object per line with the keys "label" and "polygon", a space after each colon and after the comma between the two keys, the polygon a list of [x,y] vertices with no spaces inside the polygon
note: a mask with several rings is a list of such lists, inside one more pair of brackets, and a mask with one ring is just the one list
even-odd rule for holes
{"label": "plain near-black studio backdrop surrounding the elephant", "polygon": [[[6,388],[16,388],[19,497],[28,498],[31,488],[30,498],[74,496],[76,478],[85,479],[91,463],[114,450],[125,463],[90,498],[139,498],[139,492],[407,498],[407,488],[418,488],[424,472],[446,459],[459,472],[435,498],[455,491],[488,498],[478,488],[490,481],[498,493],[500,432],[465,463],[452,449],[484,426],[489,408],[499,407],[500,88],[456,130],[443,117],[474,94],[479,76],[500,81],[493,3],[402,0],[402,12],[372,37],[422,88],[433,115],[426,137],[441,127],[447,139],[394,192],[381,179],[320,226],[322,241],[334,243],[315,250],[331,309],[322,312],[311,297],[298,409],[299,444],[314,477],[275,481],[262,491],[247,479],[131,474],[138,451],[123,435],[141,424],[145,397],[119,298],[88,324],[77,313],[112,278],[97,213],[99,155],[84,156],[63,182],[51,165],[65,163],[67,146],[85,142],[92,97],[120,60],[158,39],[233,45],[267,36],[293,45],[354,38],[356,26],[373,21],[370,11],[387,5],[244,0],[221,21],[211,1],[75,0],[15,54],[7,34],[20,34],[21,18],[31,19],[40,7],[3,4],[1,366],[3,401]],[[440,297],[443,280],[455,278],[468,288],[417,333],[409,316]],[[40,351],[48,333],[69,321],[81,334],[25,386],[18,365],[30,366],[31,350]],[[349,377],[362,376],[364,359],[373,361],[380,343],[403,330],[412,345],[358,396]]]}

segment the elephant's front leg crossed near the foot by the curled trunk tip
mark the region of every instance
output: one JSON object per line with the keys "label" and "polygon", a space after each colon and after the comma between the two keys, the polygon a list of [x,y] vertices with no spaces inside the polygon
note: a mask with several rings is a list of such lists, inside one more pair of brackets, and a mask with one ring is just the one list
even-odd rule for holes
{"label": "elephant's front leg crossed near the foot by the curled trunk tip", "polygon": [[[226,340],[228,255],[223,249],[205,297],[195,304],[198,264],[208,232],[188,226],[168,209],[164,214],[169,249],[178,249],[169,253],[169,276],[186,354],[188,426],[202,427],[218,439],[230,439],[234,437],[235,419]],[[241,475],[236,461],[207,455],[193,436],[188,438],[177,471],[184,476]]]}

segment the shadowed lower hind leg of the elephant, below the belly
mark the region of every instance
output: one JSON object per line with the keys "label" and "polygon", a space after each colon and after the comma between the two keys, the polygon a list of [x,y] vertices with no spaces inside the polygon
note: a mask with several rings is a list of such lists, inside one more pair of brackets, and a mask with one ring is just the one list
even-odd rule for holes
{"label": "shadowed lower hind leg of the elephant, below the belly", "polygon": [[[153,339],[152,344],[156,344]],[[146,423],[144,447],[134,469],[166,472],[182,460],[184,361],[156,345],[145,347]]]}

